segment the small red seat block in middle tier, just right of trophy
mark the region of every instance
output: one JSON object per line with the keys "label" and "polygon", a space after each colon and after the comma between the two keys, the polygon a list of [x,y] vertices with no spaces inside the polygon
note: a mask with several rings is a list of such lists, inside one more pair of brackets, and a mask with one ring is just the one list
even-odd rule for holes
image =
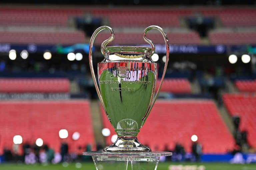
{"label": "small red seat block in middle tier, just right of trophy", "polygon": [[[157,80],[156,90],[159,88],[159,85],[160,85],[160,79]],[[191,93],[191,88],[190,88],[189,81],[187,79],[165,78],[163,80],[163,84],[160,91],[171,92],[171,93]]]}

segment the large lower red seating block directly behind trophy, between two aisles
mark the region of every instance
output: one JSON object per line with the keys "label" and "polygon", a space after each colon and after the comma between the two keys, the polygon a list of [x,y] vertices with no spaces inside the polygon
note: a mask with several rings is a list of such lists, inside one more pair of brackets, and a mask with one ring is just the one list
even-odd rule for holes
{"label": "large lower red seating block directly behind trophy, between two aisles", "polygon": [[[101,111],[103,126],[111,131],[106,142],[111,144],[115,131],[103,109]],[[190,152],[190,137],[193,134],[198,136],[203,153],[226,153],[234,146],[234,139],[211,100],[156,101],[138,139],[152,150],[164,150],[165,144],[174,148],[175,143],[179,142],[186,152]]]}

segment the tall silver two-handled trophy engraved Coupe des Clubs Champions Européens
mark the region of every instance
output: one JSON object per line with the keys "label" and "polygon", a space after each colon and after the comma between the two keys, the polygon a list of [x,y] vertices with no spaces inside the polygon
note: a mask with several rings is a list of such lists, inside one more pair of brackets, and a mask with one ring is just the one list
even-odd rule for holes
{"label": "tall silver two-handled trophy engraved Coupe des Clubs Champions Europ\u00e9ens", "polygon": [[[92,47],[95,37],[104,29],[108,29],[111,35],[101,44],[104,59],[98,63],[98,85],[92,65]],[[148,31],[152,29],[161,32],[166,45],[166,62],[157,91],[158,64],[151,58],[155,45],[146,38]],[[160,91],[169,60],[169,43],[166,33],[158,26],[146,28],[143,38],[151,47],[106,46],[114,39],[114,31],[107,26],[99,27],[92,35],[89,61],[93,81],[107,118],[118,135],[117,140],[103,151],[151,151],[138,141],[137,134]]]}

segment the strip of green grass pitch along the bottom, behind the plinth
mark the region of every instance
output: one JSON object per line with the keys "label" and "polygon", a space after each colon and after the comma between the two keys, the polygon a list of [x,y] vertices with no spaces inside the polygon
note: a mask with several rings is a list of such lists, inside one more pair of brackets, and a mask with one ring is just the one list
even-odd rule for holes
{"label": "strip of green grass pitch along the bottom, behind the plinth", "polygon": [[[227,163],[179,163],[181,165],[204,165],[206,170],[256,170],[256,164],[227,164]],[[96,170],[93,163],[82,163],[77,168],[75,163],[68,165],[24,165],[24,164],[0,164],[0,170]],[[178,165],[173,162],[160,162],[157,170],[168,170],[169,165]],[[115,170],[114,168],[111,170]],[[119,170],[119,169],[118,169]],[[120,169],[123,170],[123,169]]]}

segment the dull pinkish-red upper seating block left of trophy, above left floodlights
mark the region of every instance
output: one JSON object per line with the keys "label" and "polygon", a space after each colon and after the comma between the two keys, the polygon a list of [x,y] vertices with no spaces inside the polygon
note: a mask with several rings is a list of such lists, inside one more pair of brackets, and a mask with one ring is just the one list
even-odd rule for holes
{"label": "dull pinkish-red upper seating block left of trophy, above left floodlights", "polygon": [[0,43],[74,44],[85,43],[85,34],[75,32],[0,32]]}

